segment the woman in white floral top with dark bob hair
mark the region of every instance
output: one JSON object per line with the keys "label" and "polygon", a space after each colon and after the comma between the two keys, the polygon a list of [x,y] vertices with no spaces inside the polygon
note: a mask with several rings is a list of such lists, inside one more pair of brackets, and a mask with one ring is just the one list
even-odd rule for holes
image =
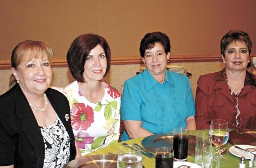
{"label": "woman in white floral top with dark bob hair", "polygon": [[67,54],[75,82],[63,89],[69,100],[71,124],[81,155],[115,144],[119,138],[120,94],[102,82],[111,60],[107,41],[96,34],[83,34]]}

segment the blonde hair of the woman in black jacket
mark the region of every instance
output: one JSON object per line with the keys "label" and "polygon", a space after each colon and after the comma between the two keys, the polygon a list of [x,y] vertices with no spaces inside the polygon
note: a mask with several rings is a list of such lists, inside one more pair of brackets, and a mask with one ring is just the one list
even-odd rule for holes
{"label": "blonde hair of the woman in black jacket", "polygon": [[[50,62],[52,61],[53,51],[52,48],[45,42],[26,40],[20,42],[11,53],[11,67],[17,70],[17,66],[21,61],[32,60],[33,58],[42,58],[47,55]],[[9,80],[9,88],[14,86],[17,80],[13,76]]]}

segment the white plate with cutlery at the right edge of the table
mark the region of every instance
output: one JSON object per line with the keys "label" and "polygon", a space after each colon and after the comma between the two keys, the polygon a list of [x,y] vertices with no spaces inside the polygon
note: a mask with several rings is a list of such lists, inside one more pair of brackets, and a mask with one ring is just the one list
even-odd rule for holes
{"label": "white plate with cutlery at the right edge of the table", "polygon": [[[256,148],[256,146],[252,146],[252,145],[235,145],[235,146],[239,146],[243,149],[247,149],[247,148]],[[235,146],[231,146],[229,148],[229,152],[234,154],[237,157],[245,157],[246,159],[251,159],[253,157],[253,155],[249,152],[243,151],[243,150],[239,150],[237,148],[235,148]],[[253,152],[256,154],[256,152]]]}

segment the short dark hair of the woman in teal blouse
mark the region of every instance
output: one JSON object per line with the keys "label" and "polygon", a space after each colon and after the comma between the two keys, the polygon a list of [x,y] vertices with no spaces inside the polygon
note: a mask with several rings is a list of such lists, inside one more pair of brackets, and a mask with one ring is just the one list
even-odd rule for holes
{"label": "short dark hair of the woman in teal blouse", "polygon": [[166,34],[162,32],[148,33],[141,40],[141,45],[139,46],[139,52],[142,58],[145,56],[145,50],[153,48],[155,42],[160,42],[163,45],[164,52],[170,52],[170,40]]}

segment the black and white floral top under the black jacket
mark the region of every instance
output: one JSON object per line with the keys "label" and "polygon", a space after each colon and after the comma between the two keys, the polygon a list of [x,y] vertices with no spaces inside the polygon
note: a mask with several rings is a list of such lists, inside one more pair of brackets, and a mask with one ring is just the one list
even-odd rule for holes
{"label": "black and white floral top under the black jacket", "polygon": [[44,167],[62,167],[69,161],[70,137],[58,115],[48,127],[40,127],[45,143]]}

